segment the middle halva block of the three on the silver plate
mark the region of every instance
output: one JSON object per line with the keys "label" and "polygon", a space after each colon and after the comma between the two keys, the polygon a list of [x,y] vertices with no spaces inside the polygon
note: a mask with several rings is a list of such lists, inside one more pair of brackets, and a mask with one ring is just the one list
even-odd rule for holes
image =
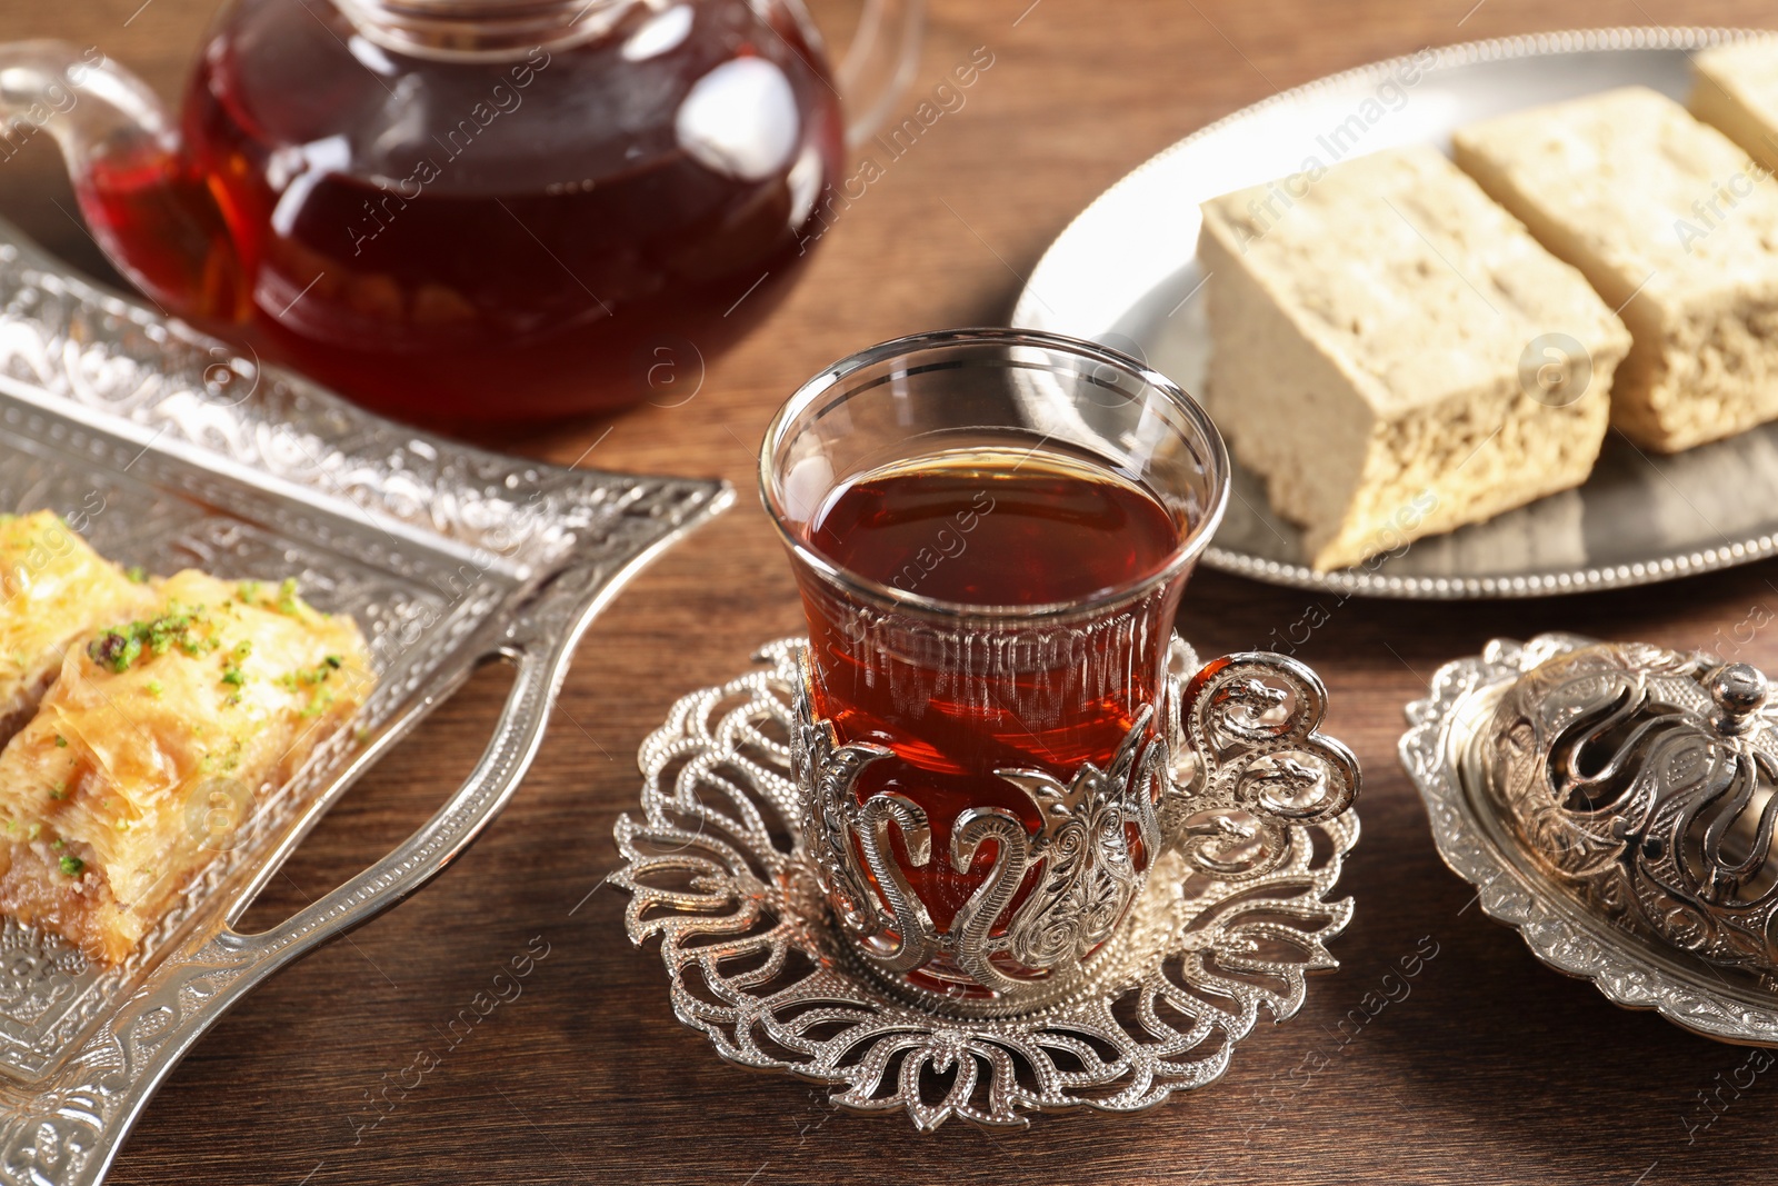
{"label": "middle halva block of the three on the silver plate", "polygon": [[1673,453],[1778,416],[1778,181],[1645,87],[1462,128],[1456,162],[1574,263],[1634,345],[1611,423]]}

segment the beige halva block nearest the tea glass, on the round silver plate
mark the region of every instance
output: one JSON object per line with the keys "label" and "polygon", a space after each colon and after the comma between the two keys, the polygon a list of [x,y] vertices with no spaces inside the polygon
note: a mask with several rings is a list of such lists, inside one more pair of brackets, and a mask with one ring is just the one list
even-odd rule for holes
{"label": "beige halva block nearest the tea glass, on the round silver plate", "polygon": [[1412,146],[1204,206],[1209,409],[1316,569],[1581,484],[1630,336]]}

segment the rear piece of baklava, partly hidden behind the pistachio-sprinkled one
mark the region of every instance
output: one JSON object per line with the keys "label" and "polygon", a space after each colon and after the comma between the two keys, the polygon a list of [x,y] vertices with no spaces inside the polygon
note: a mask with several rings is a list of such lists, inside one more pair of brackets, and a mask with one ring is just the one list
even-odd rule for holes
{"label": "rear piece of baklava, partly hidden behind the pistachio-sprinkled one", "polygon": [[53,512],[0,516],[0,743],[36,711],[75,640],[151,601]]}

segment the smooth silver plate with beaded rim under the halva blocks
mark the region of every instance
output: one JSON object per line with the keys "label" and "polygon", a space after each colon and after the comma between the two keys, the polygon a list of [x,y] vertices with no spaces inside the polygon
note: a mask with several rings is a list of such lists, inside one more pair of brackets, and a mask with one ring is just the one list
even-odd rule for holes
{"label": "smooth silver plate with beaded rim under the halva blocks", "polygon": [[[1197,391],[1209,359],[1198,203],[1296,172],[1307,156],[1332,164],[1328,137],[1353,116],[1364,132],[1339,140],[1341,158],[1412,142],[1449,151],[1451,130],[1465,123],[1630,84],[1684,101],[1691,52],[1746,36],[1604,28],[1476,41],[1284,91],[1106,190],[1051,244],[1012,324],[1122,349]],[[1401,85],[1406,76],[1417,80]],[[1236,464],[1234,498],[1204,564],[1301,589],[1451,599],[1645,585],[1774,551],[1778,425],[1766,425],[1675,457],[1645,455],[1613,432],[1582,487],[1337,573],[1303,564],[1301,530],[1271,514],[1264,484]]]}

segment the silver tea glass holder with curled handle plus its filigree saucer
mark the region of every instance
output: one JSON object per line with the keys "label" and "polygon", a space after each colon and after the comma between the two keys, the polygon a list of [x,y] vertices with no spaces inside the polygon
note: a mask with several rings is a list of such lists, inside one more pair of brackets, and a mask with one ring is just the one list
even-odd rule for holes
{"label": "silver tea glass holder with curled handle plus its filigree saucer", "polygon": [[[955,950],[960,939],[930,919],[916,932],[921,912],[898,893],[839,894],[852,918],[836,919],[836,877],[866,884],[864,869],[823,862],[820,837],[832,829],[850,846],[852,829],[869,836],[894,813],[903,836],[919,829],[905,805],[873,807],[875,798],[852,797],[827,818],[805,811],[843,804],[832,791],[868,754],[846,757],[811,717],[798,692],[802,647],[772,644],[757,654],[763,669],[674,704],[642,745],[642,811],[615,829],[624,866],[612,882],[631,896],[629,939],[660,941],[674,1014],[722,1058],[827,1083],[845,1110],[907,1111],[925,1131],[949,1117],[1024,1126],[1040,1110],[1138,1111],[1214,1081],[1261,1010],[1287,1021],[1307,973],[1337,967],[1326,942],[1351,919],[1351,902],[1332,893],[1358,841],[1358,766],[1317,733],[1326,692],[1301,663],[1237,654],[1200,669],[1173,640],[1163,736],[1147,757],[1163,763],[1166,788],[1150,820],[1120,793],[1143,779],[1118,788],[1117,763],[1031,788],[1035,802],[1065,802],[1083,823],[1131,813],[1152,829],[1157,855],[1079,974],[981,1003],[900,980],[912,950],[930,958],[949,946],[964,967],[985,953]],[[1141,761],[1133,754],[1124,773]],[[829,786],[798,781],[797,770],[825,773]],[[1054,836],[999,837],[1003,823],[965,820],[957,834],[976,841],[976,830],[996,829],[997,862],[1015,852],[1028,868],[1051,862],[1040,884],[1067,882],[1067,893],[1040,889],[1019,912],[1077,903],[1061,910],[1061,930],[1085,941],[1093,932],[1085,907],[1102,912],[1106,902],[1083,891],[1093,878],[1069,871],[1093,868],[1093,857],[1069,864]],[[1058,816],[1054,830],[1063,827]],[[990,877],[983,894],[996,884]],[[1104,884],[1117,887],[1113,900],[1127,889],[1120,878]],[[978,905],[992,909],[987,898]],[[898,912],[907,946],[861,955],[848,932],[880,930]]]}

